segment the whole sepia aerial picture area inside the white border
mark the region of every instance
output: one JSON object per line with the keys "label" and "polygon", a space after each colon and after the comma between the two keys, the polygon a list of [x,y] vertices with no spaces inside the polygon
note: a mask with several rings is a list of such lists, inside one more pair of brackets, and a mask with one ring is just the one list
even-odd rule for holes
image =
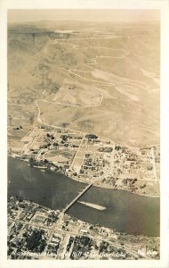
{"label": "whole sepia aerial picture area inside the white border", "polygon": [[159,261],[160,10],[6,15],[7,260]]}

